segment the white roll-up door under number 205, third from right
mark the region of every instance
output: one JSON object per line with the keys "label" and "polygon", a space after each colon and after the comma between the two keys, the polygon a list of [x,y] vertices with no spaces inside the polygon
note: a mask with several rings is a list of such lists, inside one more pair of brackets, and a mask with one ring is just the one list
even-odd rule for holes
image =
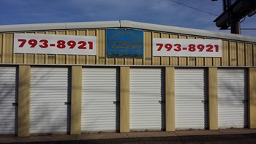
{"label": "white roll-up door under number 205, third from right", "polygon": [[130,69],[131,130],[164,129],[162,78],[162,69]]}

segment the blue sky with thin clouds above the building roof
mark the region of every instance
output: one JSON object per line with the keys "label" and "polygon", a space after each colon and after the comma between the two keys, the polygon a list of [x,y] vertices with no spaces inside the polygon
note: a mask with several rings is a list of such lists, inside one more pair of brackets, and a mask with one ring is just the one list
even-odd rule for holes
{"label": "blue sky with thin clouds above the building roof", "polygon": [[[222,13],[222,0],[176,0],[191,7]],[[0,0],[0,25],[132,20],[192,29],[219,30],[217,16],[169,0]],[[241,28],[256,28],[256,15],[246,17]],[[256,37],[256,30],[241,34]]]}

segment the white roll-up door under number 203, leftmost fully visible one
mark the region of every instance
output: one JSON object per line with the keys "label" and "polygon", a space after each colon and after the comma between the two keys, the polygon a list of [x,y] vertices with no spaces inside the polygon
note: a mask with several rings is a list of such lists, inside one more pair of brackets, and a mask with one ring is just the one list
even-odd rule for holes
{"label": "white roll-up door under number 203, leftmost fully visible one", "polygon": [[68,68],[31,68],[30,133],[67,133]]}

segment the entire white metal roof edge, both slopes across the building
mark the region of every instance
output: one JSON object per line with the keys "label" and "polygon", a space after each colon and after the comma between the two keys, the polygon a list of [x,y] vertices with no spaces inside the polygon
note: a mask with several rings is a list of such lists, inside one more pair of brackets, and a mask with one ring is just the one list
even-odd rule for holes
{"label": "entire white metal roof edge, both slopes across the building", "polygon": [[15,31],[46,31],[46,30],[67,30],[67,29],[105,29],[105,28],[129,28],[143,29],[148,31],[162,31],[175,34],[187,34],[199,37],[211,37],[216,39],[233,39],[245,42],[256,42],[256,37],[238,34],[228,34],[200,29],[188,29],[175,26],[165,26],[152,23],[140,23],[130,20],[78,22],[78,23],[40,23],[0,26],[0,32]]}

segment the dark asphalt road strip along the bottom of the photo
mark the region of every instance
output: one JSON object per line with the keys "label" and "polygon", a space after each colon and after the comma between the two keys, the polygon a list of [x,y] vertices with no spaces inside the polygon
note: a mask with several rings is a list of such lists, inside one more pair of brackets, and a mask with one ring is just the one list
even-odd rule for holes
{"label": "dark asphalt road strip along the bottom of the photo", "polygon": [[[0,142],[1,143],[1,142]],[[32,143],[32,142],[31,142]],[[123,139],[108,139],[108,140],[72,140],[72,141],[58,141],[58,142],[38,142],[41,143],[110,143],[110,144],[119,144],[119,143],[214,143],[214,144],[224,144],[224,143],[243,143],[243,144],[256,144],[256,134],[221,134],[221,135],[204,135],[204,136],[178,136],[178,137],[140,137],[140,138],[123,138]]]}

